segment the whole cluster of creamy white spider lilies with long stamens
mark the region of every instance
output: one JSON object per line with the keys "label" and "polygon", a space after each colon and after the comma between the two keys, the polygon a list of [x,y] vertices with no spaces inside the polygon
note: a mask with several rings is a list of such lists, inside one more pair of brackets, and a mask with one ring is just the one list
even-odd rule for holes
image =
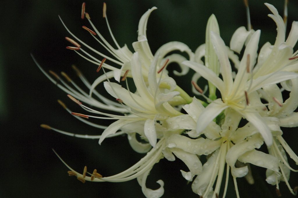
{"label": "whole cluster of creamy white spider lilies with long stamens", "polygon": [[[92,115],[74,113],[59,100],[69,113],[104,131],[101,135],[90,136],[64,132],[44,124],[41,126],[66,135],[99,139],[99,144],[107,137],[127,134],[128,141],[136,152],[147,153],[131,168],[110,177],[102,177],[96,169],[88,177],[86,167],[83,174],[80,174],[58,156],[70,169],[69,175],[76,176],[82,182],[122,182],[137,178],[145,197],[158,198],[164,193],[164,182],[157,181],[160,184],[157,190],[146,188],[147,176],[160,159],[174,161],[177,157],[189,169],[181,170],[182,177],[193,181],[193,192],[200,197],[225,197],[230,173],[239,197],[236,178],[245,177],[249,183],[254,182],[250,165],[266,168],[266,181],[276,185],[278,193],[280,181],[285,181],[291,193],[296,194],[297,188],[293,190],[288,180],[290,171],[297,170],[290,167],[287,154],[297,164],[298,157],[283,139],[280,127],[298,126],[298,113],[294,112],[298,106],[298,52],[293,51],[298,40],[298,22],[292,23],[286,39],[283,18],[274,6],[267,3],[265,5],[272,12],[268,16],[277,24],[277,37],[273,45],[269,42],[264,44],[259,53],[260,30],[252,30],[250,25],[249,30],[239,27],[232,35],[228,47],[220,37],[214,15],[210,16],[207,23],[206,42],[195,53],[187,45],[174,41],[164,44],[153,55],[147,41],[146,25],[150,13],[156,7],[149,9],[141,17],[138,40],[132,44],[135,52],[131,52],[126,45],[120,47],[111,33],[106,5],[104,4],[103,17],[117,49],[92,24],[83,3],[81,17],[87,18],[92,30],[85,26],[83,28],[114,58],[98,52],[77,38],[61,20],[74,38],[66,37],[75,46],[66,48],[94,63],[98,67],[97,72],[102,70],[102,75],[91,84],[73,66],[89,89],[89,93],[86,93],[65,73],[61,74],[72,85],[50,71],[54,76],[52,78],[36,64],[70,99]],[[103,60],[95,58],[85,49]],[[188,60],[173,53],[177,50],[187,52]],[[171,55],[168,55],[169,52],[172,52]],[[242,57],[241,60],[239,57]],[[111,66],[106,61],[118,64],[119,67]],[[169,77],[166,67],[172,62],[181,67],[181,72],[174,71],[175,75],[185,75],[190,69],[195,71],[189,83],[193,84],[193,92],[203,96],[206,101],[190,97]],[[209,97],[205,96],[205,92],[197,84],[201,77],[208,81]],[[118,83],[111,82],[112,78]],[[133,80],[135,92],[129,89],[127,78]],[[119,84],[120,81],[125,81],[126,88]],[[103,97],[95,90],[100,83],[103,83],[105,90],[115,101]],[[221,97],[215,94],[216,89]],[[284,91],[289,92],[289,98],[285,101],[282,97]],[[88,105],[102,110],[92,109]],[[106,113],[105,110],[115,114]],[[100,116],[94,116],[96,114]],[[86,118],[89,117],[116,121],[109,126],[102,126],[87,121]],[[240,122],[242,127],[239,127]],[[246,123],[244,126],[243,122]],[[268,153],[257,150],[262,145],[268,148]],[[224,192],[220,192],[224,171]]]}

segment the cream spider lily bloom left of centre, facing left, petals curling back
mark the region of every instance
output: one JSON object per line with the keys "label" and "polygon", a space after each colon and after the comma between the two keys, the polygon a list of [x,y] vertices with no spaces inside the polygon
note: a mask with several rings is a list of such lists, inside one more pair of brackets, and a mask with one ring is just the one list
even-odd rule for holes
{"label": "cream spider lily bloom left of centre, facing left, petals curling back", "polygon": [[[119,119],[105,129],[99,143],[102,143],[106,136],[116,133],[117,130],[129,123],[145,121],[145,137],[151,146],[155,147],[157,143],[155,126],[158,125],[156,121],[163,121],[169,117],[182,115],[182,113],[176,111],[169,104],[170,100],[180,95],[180,92],[174,91],[176,82],[170,77],[156,78],[157,59],[158,54],[154,57],[150,65],[148,72],[149,85],[147,86],[142,75],[142,59],[140,59],[138,52],[135,52],[133,55],[131,60],[131,74],[139,95],[131,93],[117,83],[104,82],[105,89],[111,96],[119,98],[124,104],[131,108],[131,115]],[[162,85],[167,86],[169,89],[160,89],[160,86]],[[175,100],[177,102],[179,98],[176,98]],[[181,98],[181,100],[182,103],[186,103],[183,98]]]}

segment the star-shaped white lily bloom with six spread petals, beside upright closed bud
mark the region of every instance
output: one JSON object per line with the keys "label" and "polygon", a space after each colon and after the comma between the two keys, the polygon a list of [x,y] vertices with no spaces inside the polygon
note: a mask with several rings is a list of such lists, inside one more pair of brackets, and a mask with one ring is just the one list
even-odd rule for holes
{"label": "star-shaped white lily bloom with six spread petals, beside upright closed bud", "polygon": [[205,79],[212,82],[221,92],[222,96],[221,99],[217,99],[210,103],[198,118],[196,129],[198,134],[200,134],[210,121],[217,117],[224,109],[231,108],[240,113],[240,115],[246,118],[259,130],[268,146],[272,144],[272,135],[263,117],[260,115],[260,113],[262,113],[262,110],[259,108],[260,106],[250,103],[249,99],[251,100],[254,97],[256,90],[264,86],[296,78],[298,75],[294,72],[277,71],[254,80],[249,80],[249,76],[251,75],[250,71],[252,71],[257,58],[259,38],[260,30],[257,30],[246,46],[234,81],[226,45],[216,33],[211,32],[211,39],[220,62],[223,80],[202,64],[191,61],[183,62],[183,64],[189,66],[201,74]]}

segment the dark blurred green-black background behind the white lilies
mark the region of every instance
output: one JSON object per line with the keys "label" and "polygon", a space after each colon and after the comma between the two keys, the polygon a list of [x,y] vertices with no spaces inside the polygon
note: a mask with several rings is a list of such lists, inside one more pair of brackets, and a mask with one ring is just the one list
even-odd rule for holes
{"label": "dark blurred green-black background behind the white lilies", "polygon": [[[72,50],[64,39],[69,33],[58,15],[79,38],[102,50],[90,35],[81,28],[90,27],[80,18],[83,1],[2,1],[0,6],[0,198],[6,197],[145,197],[136,180],[123,183],[79,182],[69,177],[57,153],[75,170],[82,172],[94,168],[103,176],[124,171],[141,159],[144,154],[134,152],[126,136],[106,139],[102,146],[97,140],[85,140],[58,134],[40,127],[48,124],[61,130],[79,134],[100,134],[102,131],[81,123],[69,115],[58,103],[60,99],[75,112],[83,113],[66,94],[51,83],[30,57],[32,53],[46,70],[65,71],[79,81],[71,65],[76,66],[90,82],[98,74],[96,66],[84,60]],[[153,54],[169,41],[181,41],[195,49],[205,41],[205,28],[213,13],[218,19],[221,37],[229,45],[232,33],[246,26],[246,12],[242,0],[105,0],[111,29],[120,46],[137,39],[139,18],[149,8],[158,9],[151,14],[147,36]],[[260,46],[266,41],[274,43],[276,25],[267,16],[270,13],[263,4],[268,2],[283,15],[282,0],[249,1],[252,26],[261,29]],[[103,36],[112,43],[105,20],[102,18],[103,1],[86,1],[86,12]],[[298,2],[290,0],[288,30],[293,20],[298,20]],[[100,58],[99,58],[100,59]],[[176,78],[177,84],[185,84],[185,77]],[[185,84],[190,92],[190,83]],[[186,88],[187,87],[187,88]],[[105,90],[100,90],[105,92]],[[298,153],[297,129],[284,131],[284,138]],[[264,148],[265,149],[265,148]],[[293,163],[291,162],[293,165]],[[295,166],[294,166],[295,167]],[[238,179],[240,197],[277,197],[275,187],[265,182],[265,169],[252,167],[256,183],[249,185]],[[297,168],[297,166],[296,166]],[[180,169],[187,170],[181,161],[165,159],[156,164],[147,180],[147,186],[159,187],[155,182],[165,182],[164,198],[198,197],[191,184],[181,176]],[[292,188],[298,185],[297,174],[291,172]],[[283,197],[291,195],[284,182],[280,183]],[[234,186],[229,183],[227,197],[235,197]]]}

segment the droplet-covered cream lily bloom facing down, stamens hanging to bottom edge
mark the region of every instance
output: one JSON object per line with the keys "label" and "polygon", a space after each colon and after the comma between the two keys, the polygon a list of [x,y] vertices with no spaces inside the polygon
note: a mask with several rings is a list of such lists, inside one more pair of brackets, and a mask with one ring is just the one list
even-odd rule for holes
{"label": "droplet-covered cream lily bloom facing down, stamens hanging to bottom edge", "polygon": [[[164,151],[164,156],[173,161],[175,160],[175,157],[171,156],[171,153],[173,153],[187,165],[189,172],[181,170],[182,176],[186,180],[192,181],[193,177],[198,175],[192,184],[195,193],[202,197],[218,197],[226,166],[226,184],[221,197],[226,196],[230,169],[236,194],[239,197],[236,177],[246,176],[249,169],[247,165],[237,166],[238,168],[236,168],[237,160],[279,173],[277,157],[255,150],[263,144],[263,138],[252,123],[247,123],[245,126],[238,128],[241,116],[236,111],[230,108],[224,111],[225,120],[221,127],[211,121],[203,132],[206,138],[203,138],[195,137],[195,133],[192,131],[195,131],[196,125],[199,124],[196,123],[196,120],[204,112],[204,106],[196,98],[193,98],[193,102],[184,105],[183,109],[188,115],[169,118],[166,123],[170,129],[191,130],[187,134],[196,139],[190,139],[179,134],[171,135],[166,140],[168,149],[167,154]],[[279,126],[276,126],[277,118],[266,117],[264,119],[270,131],[281,132]],[[202,165],[197,156],[204,155],[208,158],[207,162]],[[215,189],[213,190],[214,184]]]}

